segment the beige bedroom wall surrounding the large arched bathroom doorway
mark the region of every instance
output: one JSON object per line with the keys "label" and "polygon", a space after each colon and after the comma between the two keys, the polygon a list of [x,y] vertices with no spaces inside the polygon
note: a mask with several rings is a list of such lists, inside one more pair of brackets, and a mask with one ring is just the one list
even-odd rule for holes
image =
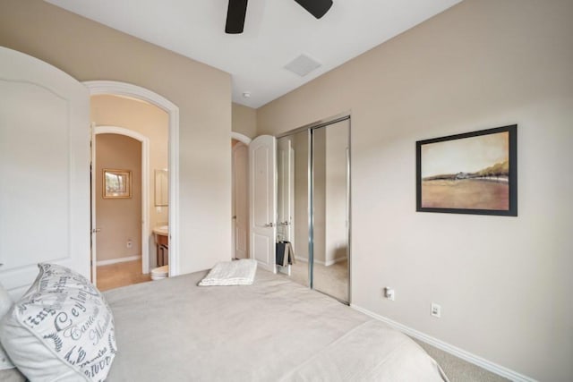
{"label": "beige bedroom wall surrounding the large arched bathroom doorway", "polygon": [[0,45],[53,64],[79,81],[133,83],[178,106],[180,271],[205,269],[230,259],[228,73],[41,0],[3,0]]}

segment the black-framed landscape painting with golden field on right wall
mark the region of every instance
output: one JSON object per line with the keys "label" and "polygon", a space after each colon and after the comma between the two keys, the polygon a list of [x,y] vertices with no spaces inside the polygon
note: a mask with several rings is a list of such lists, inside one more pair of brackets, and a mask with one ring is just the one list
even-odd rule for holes
{"label": "black-framed landscape painting with golden field on right wall", "polygon": [[418,140],[416,211],[517,216],[517,125]]}

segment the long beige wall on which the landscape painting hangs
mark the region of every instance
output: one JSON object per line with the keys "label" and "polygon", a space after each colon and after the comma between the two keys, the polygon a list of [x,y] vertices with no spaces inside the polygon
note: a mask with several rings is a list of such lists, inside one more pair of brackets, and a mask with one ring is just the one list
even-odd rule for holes
{"label": "long beige wall on which the landscape painting hangs", "polygon": [[[573,375],[572,16],[466,0],[257,110],[260,134],[351,111],[353,304],[548,381]],[[519,216],[415,212],[416,140],[509,123]]]}

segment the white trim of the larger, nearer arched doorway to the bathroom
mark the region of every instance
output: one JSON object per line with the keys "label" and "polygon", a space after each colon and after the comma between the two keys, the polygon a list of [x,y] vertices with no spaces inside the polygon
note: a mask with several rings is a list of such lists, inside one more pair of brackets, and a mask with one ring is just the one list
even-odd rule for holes
{"label": "white trim of the larger, nearer arched doorway to the bathroom", "polygon": [[[169,276],[179,275],[179,107],[157,93],[120,81],[83,81],[90,96],[124,96],[147,101],[169,115]],[[149,224],[149,223],[148,223]]]}

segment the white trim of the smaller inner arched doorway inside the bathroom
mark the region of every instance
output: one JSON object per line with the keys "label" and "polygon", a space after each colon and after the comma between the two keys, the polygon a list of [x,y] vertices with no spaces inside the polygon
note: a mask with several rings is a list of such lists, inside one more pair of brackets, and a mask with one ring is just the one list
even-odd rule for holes
{"label": "white trim of the smaller inner arched doorway inside the bathroom", "polygon": [[[139,132],[119,126],[94,126],[93,134],[124,135],[141,142],[141,273],[150,273],[150,139]],[[94,168],[96,167],[95,165]],[[92,213],[95,213],[94,211]],[[97,254],[96,254],[97,256]],[[97,267],[97,258],[94,266]]]}

